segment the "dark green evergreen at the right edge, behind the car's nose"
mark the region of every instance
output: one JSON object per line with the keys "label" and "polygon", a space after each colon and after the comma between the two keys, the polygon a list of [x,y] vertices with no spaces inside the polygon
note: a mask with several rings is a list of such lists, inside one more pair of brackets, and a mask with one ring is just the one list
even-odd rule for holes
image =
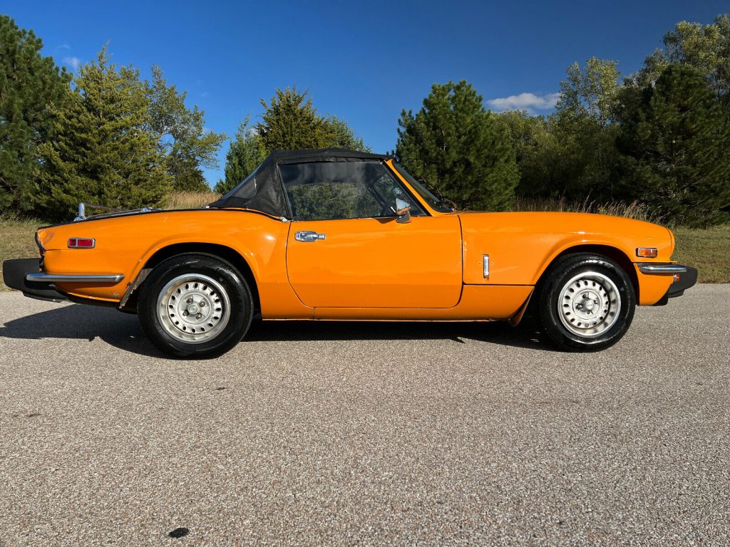
{"label": "dark green evergreen at the right edge, behind the car's nose", "polygon": [[619,143],[634,160],[640,197],[671,220],[691,226],[728,220],[730,128],[702,72],[666,67],[623,124]]}

